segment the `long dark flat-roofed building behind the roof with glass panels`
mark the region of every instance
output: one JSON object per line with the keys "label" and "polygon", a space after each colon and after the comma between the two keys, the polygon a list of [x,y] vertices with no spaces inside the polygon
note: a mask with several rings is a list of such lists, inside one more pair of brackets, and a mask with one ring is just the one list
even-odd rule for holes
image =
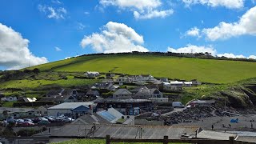
{"label": "long dark flat-roofed building behind the roof with glass panels", "polygon": [[153,109],[152,102],[147,99],[105,98],[97,99],[94,102],[97,103],[98,111],[113,107],[124,115],[138,115]]}

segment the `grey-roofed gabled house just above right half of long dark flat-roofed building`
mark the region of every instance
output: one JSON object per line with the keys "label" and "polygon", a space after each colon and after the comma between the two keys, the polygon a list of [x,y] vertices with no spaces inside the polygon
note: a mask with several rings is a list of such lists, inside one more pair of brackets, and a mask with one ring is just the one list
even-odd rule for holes
{"label": "grey-roofed gabled house just above right half of long dark flat-roofed building", "polygon": [[158,89],[140,89],[138,93],[134,94],[136,99],[162,98],[163,94]]}

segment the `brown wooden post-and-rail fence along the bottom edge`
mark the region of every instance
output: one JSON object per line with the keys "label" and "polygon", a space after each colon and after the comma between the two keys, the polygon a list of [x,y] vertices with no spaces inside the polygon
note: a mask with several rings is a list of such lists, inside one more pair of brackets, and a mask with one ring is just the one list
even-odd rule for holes
{"label": "brown wooden post-and-rail fence along the bottom edge", "polygon": [[168,139],[168,136],[164,136],[163,139],[114,139],[110,138],[110,135],[106,135],[106,144],[110,142],[162,142],[168,144],[170,142],[182,142],[182,143],[198,143],[198,144],[243,144],[243,143],[254,143],[254,142],[241,142],[235,141],[234,137],[230,137],[229,140],[213,140],[213,139]]}

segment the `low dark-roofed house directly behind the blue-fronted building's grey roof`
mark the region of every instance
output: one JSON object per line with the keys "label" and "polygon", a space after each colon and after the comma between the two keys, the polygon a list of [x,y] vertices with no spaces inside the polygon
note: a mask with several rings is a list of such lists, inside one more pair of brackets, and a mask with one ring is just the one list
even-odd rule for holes
{"label": "low dark-roofed house directly behind the blue-fronted building's grey roof", "polygon": [[63,102],[78,102],[78,99],[73,95],[55,95],[52,97],[44,97],[41,98],[40,101],[52,101],[55,103],[63,103]]}

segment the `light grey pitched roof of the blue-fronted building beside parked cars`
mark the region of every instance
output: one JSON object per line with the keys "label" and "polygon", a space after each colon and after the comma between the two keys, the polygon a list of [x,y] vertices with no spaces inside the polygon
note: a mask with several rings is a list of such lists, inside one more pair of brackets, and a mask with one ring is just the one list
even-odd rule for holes
{"label": "light grey pitched roof of the blue-fronted building beside parked cars", "polygon": [[61,103],[59,105],[56,105],[56,106],[52,106],[52,107],[49,107],[48,109],[51,110],[51,109],[74,109],[74,108],[77,108],[78,106],[89,106],[89,105],[94,105],[94,102],[64,102],[64,103]]}

